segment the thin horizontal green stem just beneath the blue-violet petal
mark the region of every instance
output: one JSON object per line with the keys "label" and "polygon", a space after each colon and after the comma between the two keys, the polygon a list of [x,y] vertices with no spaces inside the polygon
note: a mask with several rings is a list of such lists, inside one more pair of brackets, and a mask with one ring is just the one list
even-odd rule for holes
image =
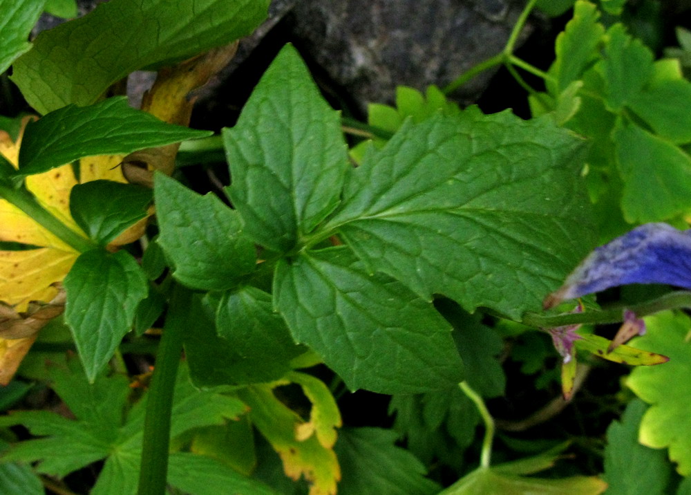
{"label": "thin horizontal green stem just beneath the blue-violet petal", "polygon": [[643,317],[663,310],[681,308],[691,309],[691,292],[687,290],[670,292],[669,294],[643,303],[632,304],[630,306],[619,306],[603,311],[588,311],[557,316],[527,313],[524,315],[521,323],[538,328],[555,328],[557,326],[577,324],[607,324],[622,321],[624,309],[633,311],[638,317]]}

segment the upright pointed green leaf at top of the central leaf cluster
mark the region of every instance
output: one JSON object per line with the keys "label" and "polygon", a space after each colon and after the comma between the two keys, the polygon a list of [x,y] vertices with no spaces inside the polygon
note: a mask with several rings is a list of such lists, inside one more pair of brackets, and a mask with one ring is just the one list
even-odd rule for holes
{"label": "upright pointed green leaf at top of the central leaf cluster", "polygon": [[274,59],[223,140],[229,196],[256,243],[290,251],[337,207],[348,169],[339,114],[292,46]]}

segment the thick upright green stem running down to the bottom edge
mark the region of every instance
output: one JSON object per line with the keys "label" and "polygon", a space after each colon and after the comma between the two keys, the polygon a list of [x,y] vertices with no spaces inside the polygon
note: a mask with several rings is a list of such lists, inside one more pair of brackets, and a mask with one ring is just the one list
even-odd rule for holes
{"label": "thick upright green stem running down to the bottom edge", "polygon": [[144,442],[139,474],[138,495],[163,495],[168,474],[171,410],[175,391],[182,335],[184,312],[189,306],[191,292],[181,286],[173,288],[169,312],[158,345],[151,388],[147,394]]}

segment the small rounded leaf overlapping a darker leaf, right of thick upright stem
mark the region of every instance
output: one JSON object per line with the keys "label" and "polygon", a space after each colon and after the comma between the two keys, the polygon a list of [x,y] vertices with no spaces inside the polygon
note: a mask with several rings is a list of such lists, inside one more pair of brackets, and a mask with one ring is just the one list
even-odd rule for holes
{"label": "small rounded leaf overlapping a darker leaf, right of thick upright stem", "polygon": [[290,371],[290,359],[304,352],[296,346],[281,315],[274,312],[271,295],[255,287],[223,294],[216,328],[238,355],[254,360],[271,380]]}

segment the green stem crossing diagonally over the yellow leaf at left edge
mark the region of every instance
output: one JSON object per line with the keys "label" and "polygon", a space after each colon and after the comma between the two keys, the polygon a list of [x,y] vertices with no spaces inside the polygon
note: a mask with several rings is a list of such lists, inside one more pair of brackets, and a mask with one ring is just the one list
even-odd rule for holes
{"label": "green stem crossing diagonally over the yellow leaf at left edge", "polygon": [[9,185],[0,184],[0,198],[8,200],[12,205],[21,209],[21,211],[30,216],[32,220],[39,223],[42,227],[75,250],[86,252],[96,247],[89,239],[77,234],[77,232],[59,221],[52,213],[48,212],[47,209],[39,204],[33,194],[23,189],[23,187],[14,189]]}

